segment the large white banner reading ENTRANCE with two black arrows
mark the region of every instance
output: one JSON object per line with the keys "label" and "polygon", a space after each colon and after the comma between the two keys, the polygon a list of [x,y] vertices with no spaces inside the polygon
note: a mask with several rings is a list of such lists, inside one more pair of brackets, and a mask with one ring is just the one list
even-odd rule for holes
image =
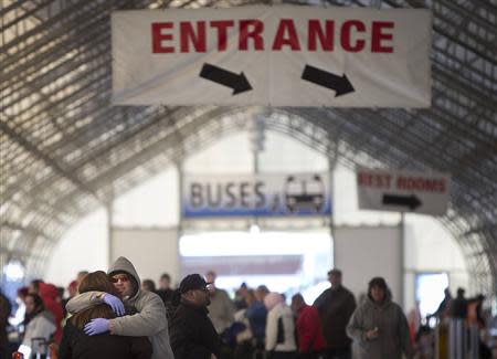
{"label": "large white banner reading ENTRANCE with two black arrows", "polygon": [[431,104],[429,10],[118,11],[112,33],[114,104]]}

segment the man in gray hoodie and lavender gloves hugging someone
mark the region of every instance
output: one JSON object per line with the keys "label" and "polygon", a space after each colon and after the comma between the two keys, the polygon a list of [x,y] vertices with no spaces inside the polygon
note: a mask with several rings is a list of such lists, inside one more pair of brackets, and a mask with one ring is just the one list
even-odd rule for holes
{"label": "man in gray hoodie and lavender gloves hugging someone", "polygon": [[[141,282],[135,266],[123,256],[116,260],[107,274],[124,303],[134,306],[138,313],[114,319],[92,319],[85,326],[85,332],[91,336],[105,331],[118,336],[146,336],[154,348],[151,359],[173,359],[162,299],[155,293],[140,289]],[[124,307],[119,302],[109,293],[87,292],[72,298],[66,308],[75,314],[95,304],[107,303],[117,315],[123,315]]]}

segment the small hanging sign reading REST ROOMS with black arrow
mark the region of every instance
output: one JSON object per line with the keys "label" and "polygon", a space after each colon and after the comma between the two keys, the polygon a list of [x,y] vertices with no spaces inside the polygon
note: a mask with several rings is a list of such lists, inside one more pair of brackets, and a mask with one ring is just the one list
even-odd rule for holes
{"label": "small hanging sign reading REST ROOMS with black arrow", "polygon": [[359,208],[444,214],[447,210],[451,177],[444,173],[406,171],[357,171]]}

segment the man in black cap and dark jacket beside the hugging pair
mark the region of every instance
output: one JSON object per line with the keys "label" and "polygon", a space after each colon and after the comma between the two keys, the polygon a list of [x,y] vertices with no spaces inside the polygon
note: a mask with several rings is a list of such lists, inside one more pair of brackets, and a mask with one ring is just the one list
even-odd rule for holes
{"label": "man in black cap and dark jacket beside the hugging pair", "polygon": [[221,339],[208,317],[208,283],[199,274],[187,275],[180,283],[180,305],[172,315],[170,342],[175,359],[220,358]]}

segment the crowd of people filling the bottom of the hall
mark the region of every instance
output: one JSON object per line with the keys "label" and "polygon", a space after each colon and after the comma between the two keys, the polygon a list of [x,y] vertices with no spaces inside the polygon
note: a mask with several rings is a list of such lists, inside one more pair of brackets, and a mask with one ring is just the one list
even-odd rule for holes
{"label": "crowd of people filling the bottom of the hall", "polygon": [[[11,349],[24,358],[52,359],[376,359],[433,358],[432,330],[419,314],[408,317],[392,300],[384,278],[369,281],[360,303],[328,272],[330,287],[313,304],[299,293],[287,298],[265,285],[242,284],[235,298],[215,285],[216,274],[187,275],[178,288],[163,274],[140,281],[125,257],[107,273],[81,272],[63,291],[33,281],[18,291],[18,310],[0,295],[0,358]],[[432,315],[483,320],[478,300],[458,292]],[[475,305],[474,305],[475,304]],[[10,318],[9,318],[10,316]],[[430,319],[430,318],[429,318]],[[12,334],[19,334],[17,337]],[[52,352],[49,345],[52,345]],[[12,351],[12,350],[10,350]],[[491,353],[490,353],[491,355]],[[56,357],[56,358],[55,358]],[[482,357],[485,358],[485,357]]]}

